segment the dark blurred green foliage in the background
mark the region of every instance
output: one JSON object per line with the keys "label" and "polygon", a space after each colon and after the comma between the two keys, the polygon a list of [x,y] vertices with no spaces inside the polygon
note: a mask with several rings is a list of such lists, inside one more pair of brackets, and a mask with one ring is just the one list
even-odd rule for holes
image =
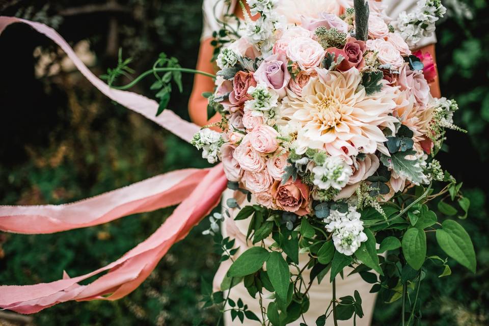
{"label": "dark blurred green foliage in the background", "polygon": [[[489,324],[489,5],[485,0],[446,0],[438,25],[442,93],[460,106],[439,158],[471,200],[462,221],[473,237],[478,272],[453,263],[453,275],[428,275],[422,287],[425,325]],[[202,1],[34,0],[0,1],[0,14],[47,23],[100,75],[114,67],[117,51],[133,57],[141,72],[159,52],[194,67],[202,26]],[[85,46],[85,47],[84,47]],[[87,54],[85,53],[85,54]],[[27,26],[10,26],[0,37],[0,203],[59,204],[94,196],[179,168],[205,167],[190,145],[96,91],[63,61],[47,38]],[[60,63],[61,69],[60,69]],[[188,118],[193,77],[169,107]],[[154,97],[151,80],[134,89]],[[204,109],[203,109],[204,110]],[[128,216],[107,225],[53,235],[0,233],[0,284],[33,284],[87,273],[148,237],[171,209]],[[216,310],[199,307],[200,280],[218,267],[202,222],[171,249],[140,288],[116,302],[65,303],[33,316],[35,325],[213,325]],[[429,248],[429,247],[428,247]],[[437,252],[431,252],[437,254]],[[374,325],[397,324],[399,306],[377,301]],[[0,324],[18,324],[0,320]]]}

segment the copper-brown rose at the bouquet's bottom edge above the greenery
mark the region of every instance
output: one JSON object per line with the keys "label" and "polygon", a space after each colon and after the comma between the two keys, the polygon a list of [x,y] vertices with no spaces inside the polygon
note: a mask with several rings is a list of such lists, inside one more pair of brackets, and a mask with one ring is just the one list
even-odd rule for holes
{"label": "copper-brown rose at the bouquet's bottom edge above the greenery", "polygon": [[311,210],[309,208],[309,188],[300,180],[289,179],[284,184],[275,181],[271,186],[271,195],[275,204],[282,210],[294,212],[304,216]]}

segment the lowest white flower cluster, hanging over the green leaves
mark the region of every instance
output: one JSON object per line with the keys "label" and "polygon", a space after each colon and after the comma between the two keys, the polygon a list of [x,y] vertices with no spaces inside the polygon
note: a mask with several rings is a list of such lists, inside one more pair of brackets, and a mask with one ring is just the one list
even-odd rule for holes
{"label": "lowest white flower cluster, hanging over the green leaves", "polygon": [[351,256],[360,248],[362,242],[367,241],[360,217],[357,207],[349,206],[345,213],[331,209],[328,218],[324,219],[324,222],[328,223],[328,232],[333,232],[333,243],[339,253]]}

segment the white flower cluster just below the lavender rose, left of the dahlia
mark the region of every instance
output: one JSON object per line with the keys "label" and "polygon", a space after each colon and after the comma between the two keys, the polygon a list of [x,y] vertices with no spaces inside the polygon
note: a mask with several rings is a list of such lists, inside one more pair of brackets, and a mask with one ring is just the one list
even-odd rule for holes
{"label": "white flower cluster just below the lavender rose, left of the dahlia", "polygon": [[[251,111],[255,117],[263,117],[263,121],[274,120],[276,116],[275,109],[278,106],[279,94],[264,84],[258,84],[256,87],[248,89],[253,99],[244,103],[244,111]],[[273,124],[273,123],[268,123]]]}

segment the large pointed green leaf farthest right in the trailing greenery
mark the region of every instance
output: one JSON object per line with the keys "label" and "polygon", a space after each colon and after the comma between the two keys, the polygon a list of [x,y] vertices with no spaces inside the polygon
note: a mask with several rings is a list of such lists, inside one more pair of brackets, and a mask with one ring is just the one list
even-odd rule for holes
{"label": "large pointed green leaf farthest right in the trailing greenery", "polygon": [[443,251],[475,273],[477,262],[474,245],[467,231],[457,222],[447,220],[437,230],[437,241]]}

